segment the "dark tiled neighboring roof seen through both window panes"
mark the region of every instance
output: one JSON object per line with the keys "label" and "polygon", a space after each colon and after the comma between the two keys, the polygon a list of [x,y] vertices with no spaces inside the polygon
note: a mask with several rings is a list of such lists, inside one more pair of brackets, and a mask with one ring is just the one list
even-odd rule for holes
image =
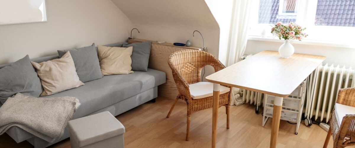
{"label": "dark tiled neighboring roof seen through both window panes", "polygon": [[[280,0],[260,0],[259,23],[295,22],[296,15],[278,14],[279,4]],[[315,25],[355,27],[355,0],[318,0]]]}

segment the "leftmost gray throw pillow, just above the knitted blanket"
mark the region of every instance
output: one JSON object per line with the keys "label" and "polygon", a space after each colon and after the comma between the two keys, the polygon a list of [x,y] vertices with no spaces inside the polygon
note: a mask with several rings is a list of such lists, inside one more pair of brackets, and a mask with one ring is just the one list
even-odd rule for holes
{"label": "leftmost gray throw pillow, just above the knitted blanket", "polygon": [[29,56],[0,69],[0,102],[17,93],[39,97],[43,88]]}

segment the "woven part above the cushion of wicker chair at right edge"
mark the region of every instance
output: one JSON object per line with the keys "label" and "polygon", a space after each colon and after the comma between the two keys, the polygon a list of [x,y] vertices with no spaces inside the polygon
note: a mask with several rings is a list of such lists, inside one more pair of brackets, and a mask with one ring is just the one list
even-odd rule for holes
{"label": "woven part above the cushion of wicker chair at right edge", "polygon": [[337,103],[355,107],[355,88],[340,89]]}

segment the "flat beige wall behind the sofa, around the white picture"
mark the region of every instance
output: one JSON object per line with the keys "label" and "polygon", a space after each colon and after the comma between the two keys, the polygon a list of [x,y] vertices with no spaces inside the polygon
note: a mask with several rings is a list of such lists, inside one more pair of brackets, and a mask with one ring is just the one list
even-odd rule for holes
{"label": "flat beige wall behind the sofa, around the white picture", "polygon": [[46,0],[48,22],[0,26],[0,64],[123,42],[132,23],[111,0]]}

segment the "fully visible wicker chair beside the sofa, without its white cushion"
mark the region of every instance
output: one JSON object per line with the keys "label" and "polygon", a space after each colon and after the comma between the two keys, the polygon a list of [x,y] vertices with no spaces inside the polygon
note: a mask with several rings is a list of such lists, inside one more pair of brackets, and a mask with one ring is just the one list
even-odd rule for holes
{"label": "fully visible wicker chair beside the sofa, without its white cushion", "polygon": [[[170,55],[168,64],[173,72],[174,81],[176,83],[176,87],[178,88],[179,94],[176,97],[174,104],[171,106],[166,118],[169,118],[176,102],[178,102],[179,99],[185,100],[187,103],[186,141],[189,141],[191,114],[200,110],[212,108],[213,105],[213,96],[201,99],[192,99],[189,84],[200,82],[201,70],[204,66],[211,65],[215,72],[222,70],[225,66],[212,54],[193,49],[175,51]],[[224,105],[226,108],[227,128],[229,128],[230,92],[231,87],[229,87],[229,92],[220,94],[219,100],[219,106]]]}

